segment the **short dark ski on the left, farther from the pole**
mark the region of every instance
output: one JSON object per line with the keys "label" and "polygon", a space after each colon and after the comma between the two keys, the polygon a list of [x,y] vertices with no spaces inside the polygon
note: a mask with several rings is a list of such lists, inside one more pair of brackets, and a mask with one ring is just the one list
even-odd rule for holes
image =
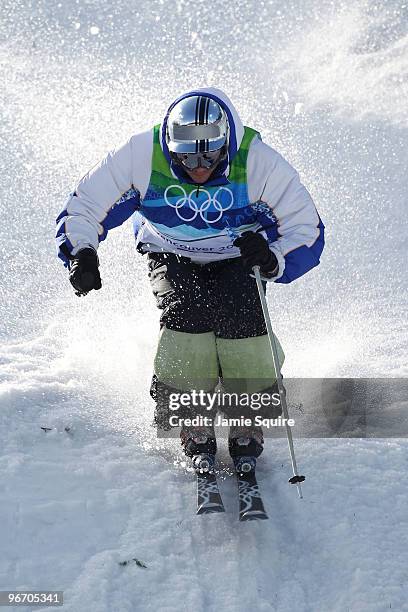
{"label": "short dark ski on the left, farther from the pole", "polygon": [[214,457],[197,455],[193,458],[197,478],[197,514],[225,512],[214,473]]}

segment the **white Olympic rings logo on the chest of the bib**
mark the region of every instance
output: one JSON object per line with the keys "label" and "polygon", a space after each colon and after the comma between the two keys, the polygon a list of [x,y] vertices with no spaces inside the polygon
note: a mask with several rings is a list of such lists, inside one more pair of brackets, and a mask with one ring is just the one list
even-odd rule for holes
{"label": "white Olympic rings logo on the chest of the bib", "polygon": [[[180,193],[180,196],[177,197],[177,200],[175,202],[170,201],[167,196],[167,193],[170,189],[178,190]],[[224,191],[227,195],[226,203],[221,202],[222,191]],[[196,191],[192,191],[187,195],[184,187],[182,187],[181,185],[170,185],[164,192],[164,200],[166,204],[171,206],[171,208],[175,209],[178,218],[181,219],[181,221],[185,221],[187,223],[194,221],[197,215],[200,215],[201,219],[205,221],[205,223],[217,223],[217,221],[221,219],[222,214],[226,210],[229,210],[234,204],[234,194],[232,193],[231,189],[228,189],[228,187],[219,187],[213,195],[211,195],[210,192],[207,191],[207,189],[203,189],[200,187],[198,192],[198,198],[195,198],[195,193]],[[200,201],[203,196],[205,197],[205,199],[203,201]],[[207,218],[207,213],[210,212],[209,208],[211,206],[213,206],[215,210],[218,211],[218,214],[215,219],[210,220]],[[186,215],[188,211],[191,211],[190,213],[188,213],[189,216],[183,216],[183,210],[184,215]]]}

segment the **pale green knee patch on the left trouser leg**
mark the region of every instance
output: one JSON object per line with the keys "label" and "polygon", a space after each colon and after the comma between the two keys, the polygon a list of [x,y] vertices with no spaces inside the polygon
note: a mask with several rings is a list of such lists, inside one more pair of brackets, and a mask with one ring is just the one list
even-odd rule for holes
{"label": "pale green knee patch on the left trouser leg", "polygon": [[163,327],[154,371],[160,382],[175,389],[210,391],[219,371],[214,333],[187,334]]}

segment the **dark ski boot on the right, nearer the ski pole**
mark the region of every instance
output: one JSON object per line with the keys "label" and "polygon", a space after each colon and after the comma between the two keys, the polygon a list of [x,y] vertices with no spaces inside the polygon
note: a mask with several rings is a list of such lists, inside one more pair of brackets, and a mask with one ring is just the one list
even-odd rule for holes
{"label": "dark ski boot on the right, nearer the ski pole", "polygon": [[237,474],[255,474],[263,442],[261,427],[231,427],[228,448]]}

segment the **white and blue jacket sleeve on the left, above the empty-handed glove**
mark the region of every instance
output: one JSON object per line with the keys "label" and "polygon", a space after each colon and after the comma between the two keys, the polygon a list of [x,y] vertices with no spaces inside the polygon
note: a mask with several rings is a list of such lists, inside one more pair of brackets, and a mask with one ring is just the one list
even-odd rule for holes
{"label": "white and blue jacket sleeve on the left, above the empty-handed glove", "polygon": [[149,184],[152,143],[151,131],[132,136],[79,181],[57,217],[57,252],[65,266],[80,249],[97,250],[110,229],[138,210]]}

